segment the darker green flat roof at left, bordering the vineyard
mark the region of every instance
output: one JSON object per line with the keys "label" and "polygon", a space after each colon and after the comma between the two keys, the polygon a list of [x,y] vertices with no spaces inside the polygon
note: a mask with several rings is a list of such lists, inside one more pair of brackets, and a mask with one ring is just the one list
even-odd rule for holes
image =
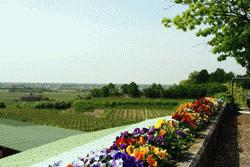
{"label": "darker green flat roof at left, bordering the vineyard", "polygon": [[84,132],[0,119],[0,146],[25,151]]}

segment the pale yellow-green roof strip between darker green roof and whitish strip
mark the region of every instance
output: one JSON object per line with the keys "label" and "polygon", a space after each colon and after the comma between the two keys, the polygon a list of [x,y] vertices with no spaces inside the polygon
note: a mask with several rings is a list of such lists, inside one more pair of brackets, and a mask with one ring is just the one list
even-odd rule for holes
{"label": "pale yellow-green roof strip between darker green roof and whitish strip", "polygon": [[115,131],[121,131],[127,126],[110,128],[96,132],[83,133],[70,136],[49,144],[23,151],[18,154],[0,159],[0,167],[26,167],[40,161],[56,156],[60,153],[70,151],[83,144],[90,143],[95,139],[109,135]]}

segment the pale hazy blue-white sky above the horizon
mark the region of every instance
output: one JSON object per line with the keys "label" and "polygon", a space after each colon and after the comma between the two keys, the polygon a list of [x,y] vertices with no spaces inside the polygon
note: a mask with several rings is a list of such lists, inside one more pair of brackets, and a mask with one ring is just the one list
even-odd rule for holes
{"label": "pale hazy blue-white sky above the horizon", "polygon": [[0,82],[173,84],[194,70],[244,74],[206,38],[165,28],[169,0],[0,0]]}

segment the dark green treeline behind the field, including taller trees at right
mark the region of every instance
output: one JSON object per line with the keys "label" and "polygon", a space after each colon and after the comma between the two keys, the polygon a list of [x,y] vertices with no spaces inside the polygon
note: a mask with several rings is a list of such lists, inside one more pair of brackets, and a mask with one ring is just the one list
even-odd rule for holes
{"label": "dark green treeline behind the field, including taller trees at right", "polygon": [[91,97],[147,97],[147,98],[199,98],[215,95],[227,91],[225,83],[229,82],[234,73],[226,73],[223,69],[216,69],[212,73],[207,70],[192,72],[187,80],[178,85],[163,88],[161,84],[152,84],[148,88],[139,90],[135,82],[123,84],[120,87],[110,83],[101,88],[90,90]]}

